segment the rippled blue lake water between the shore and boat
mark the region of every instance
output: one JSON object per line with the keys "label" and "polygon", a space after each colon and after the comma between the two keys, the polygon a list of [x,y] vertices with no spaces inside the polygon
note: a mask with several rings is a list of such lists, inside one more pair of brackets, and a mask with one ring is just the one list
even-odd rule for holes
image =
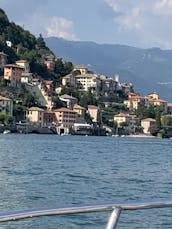
{"label": "rippled blue lake water between the shore and boat", "polygon": [[[0,135],[0,212],[172,197],[172,140]],[[101,229],[110,213],[0,223]],[[172,228],[172,209],[123,212],[118,228]]]}

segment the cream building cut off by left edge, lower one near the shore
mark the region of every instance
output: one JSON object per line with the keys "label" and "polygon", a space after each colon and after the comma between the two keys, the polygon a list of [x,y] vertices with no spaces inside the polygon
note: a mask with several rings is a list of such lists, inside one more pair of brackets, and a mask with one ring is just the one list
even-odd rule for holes
{"label": "cream building cut off by left edge, lower one near the shore", "polygon": [[13,100],[0,96],[0,112],[13,115]]}

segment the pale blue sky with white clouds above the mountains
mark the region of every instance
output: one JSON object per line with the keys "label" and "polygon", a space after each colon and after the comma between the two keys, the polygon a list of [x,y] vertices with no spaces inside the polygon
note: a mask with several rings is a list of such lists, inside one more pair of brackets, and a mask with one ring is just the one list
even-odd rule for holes
{"label": "pale blue sky with white clouds above the mountains", "polygon": [[0,0],[34,35],[172,49],[172,0]]}

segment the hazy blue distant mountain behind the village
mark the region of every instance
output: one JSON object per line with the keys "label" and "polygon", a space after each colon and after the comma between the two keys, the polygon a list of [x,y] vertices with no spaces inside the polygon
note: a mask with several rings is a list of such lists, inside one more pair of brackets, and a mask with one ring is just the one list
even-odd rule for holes
{"label": "hazy blue distant mountain behind the village", "polygon": [[117,44],[67,41],[45,38],[46,45],[57,55],[74,64],[134,85],[135,91],[147,95],[153,91],[172,101],[172,50],[141,49]]}

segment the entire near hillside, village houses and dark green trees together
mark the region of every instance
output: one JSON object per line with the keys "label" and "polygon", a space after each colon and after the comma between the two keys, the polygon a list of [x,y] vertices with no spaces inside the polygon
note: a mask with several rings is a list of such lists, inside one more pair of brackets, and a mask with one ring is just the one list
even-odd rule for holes
{"label": "entire near hillside, village houses and dark green trees together", "polygon": [[110,78],[73,66],[48,50],[41,36],[32,37],[31,46],[26,49],[9,33],[0,36],[1,132],[172,135],[172,103],[156,92],[143,96],[118,74]]}

